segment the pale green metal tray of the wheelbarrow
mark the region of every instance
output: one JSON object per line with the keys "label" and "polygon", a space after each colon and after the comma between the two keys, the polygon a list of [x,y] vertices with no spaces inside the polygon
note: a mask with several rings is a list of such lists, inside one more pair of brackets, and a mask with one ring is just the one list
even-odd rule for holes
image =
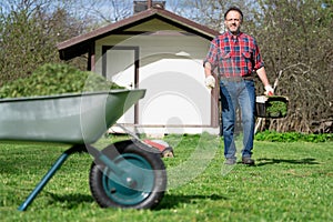
{"label": "pale green metal tray of the wheelbarrow", "polygon": [[0,140],[93,143],[145,90],[0,100]]}

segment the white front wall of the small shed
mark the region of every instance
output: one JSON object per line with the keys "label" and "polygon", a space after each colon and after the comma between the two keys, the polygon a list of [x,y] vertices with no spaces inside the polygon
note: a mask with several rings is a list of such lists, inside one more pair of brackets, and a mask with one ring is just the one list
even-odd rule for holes
{"label": "white front wall of the small shed", "polygon": [[[202,60],[209,41],[196,36],[111,36],[95,42],[95,72],[102,73],[102,47],[139,47],[139,84],[147,89],[139,101],[137,127],[145,133],[200,133],[211,128],[211,93],[204,87]],[[121,54],[119,54],[120,60]],[[121,85],[133,82],[134,63],[111,79]],[[132,123],[133,110],[121,123]],[[128,120],[127,120],[128,119]]]}

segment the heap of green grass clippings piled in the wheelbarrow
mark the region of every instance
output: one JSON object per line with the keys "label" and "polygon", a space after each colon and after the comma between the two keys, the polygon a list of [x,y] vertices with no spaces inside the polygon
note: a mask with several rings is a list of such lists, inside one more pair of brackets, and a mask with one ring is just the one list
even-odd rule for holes
{"label": "heap of green grass clippings piled in the wheelbarrow", "polygon": [[51,95],[75,92],[123,89],[100,74],[81,71],[68,64],[48,63],[31,75],[17,79],[0,88],[0,98]]}

